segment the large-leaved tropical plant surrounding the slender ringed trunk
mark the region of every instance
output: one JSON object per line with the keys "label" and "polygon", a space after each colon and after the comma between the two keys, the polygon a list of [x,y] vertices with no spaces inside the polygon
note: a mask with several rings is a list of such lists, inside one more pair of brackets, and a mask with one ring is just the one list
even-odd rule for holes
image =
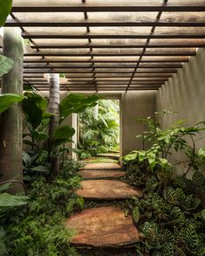
{"label": "large-leaved tropical plant surrounding the slender ringed trunk", "polygon": [[[35,160],[34,162],[32,161],[32,163],[39,163],[39,157],[46,156],[46,161],[40,163],[40,165],[45,165],[45,167],[48,168],[52,159],[55,159],[59,154],[64,154],[64,151],[67,150],[65,143],[72,142],[71,138],[75,133],[74,128],[71,128],[68,125],[63,125],[62,121],[64,121],[69,114],[79,113],[84,111],[86,107],[94,106],[99,99],[99,96],[92,95],[85,97],[81,94],[69,94],[60,103],[58,127],[55,128],[51,137],[48,135],[48,126],[52,114],[46,112],[48,101],[35,92],[26,92],[24,93],[24,96],[26,97],[22,102],[25,116],[24,129],[26,128],[25,130],[28,131],[24,134],[24,144],[28,145],[28,149],[31,149],[27,153],[31,160]],[[47,154],[45,154],[45,152],[47,152]],[[27,159],[29,157],[27,157]],[[25,165],[28,167],[28,164],[25,164],[24,161],[24,167]],[[42,169],[45,170],[42,166],[39,168],[39,166],[31,166],[31,164],[29,164],[29,168],[30,174],[31,170],[34,170],[34,168],[35,171],[38,171],[39,169],[40,171],[42,171]],[[24,170],[24,172],[26,172],[26,168],[24,168]]]}

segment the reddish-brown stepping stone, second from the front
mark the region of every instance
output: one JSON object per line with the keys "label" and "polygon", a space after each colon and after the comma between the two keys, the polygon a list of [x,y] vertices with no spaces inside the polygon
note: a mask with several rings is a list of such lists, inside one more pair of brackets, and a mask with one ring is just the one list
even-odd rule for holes
{"label": "reddish-brown stepping stone, second from the front", "polygon": [[87,199],[114,200],[143,196],[140,190],[116,180],[85,180],[80,185],[81,189],[76,193]]}

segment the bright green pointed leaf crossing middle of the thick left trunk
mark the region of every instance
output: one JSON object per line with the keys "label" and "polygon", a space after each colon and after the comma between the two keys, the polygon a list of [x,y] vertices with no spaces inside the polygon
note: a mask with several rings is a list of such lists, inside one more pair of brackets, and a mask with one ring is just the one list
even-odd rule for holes
{"label": "bright green pointed leaf crossing middle of the thick left trunk", "polygon": [[3,113],[12,104],[20,102],[24,99],[25,97],[20,94],[14,94],[14,93],[0,94],[0,113]]}

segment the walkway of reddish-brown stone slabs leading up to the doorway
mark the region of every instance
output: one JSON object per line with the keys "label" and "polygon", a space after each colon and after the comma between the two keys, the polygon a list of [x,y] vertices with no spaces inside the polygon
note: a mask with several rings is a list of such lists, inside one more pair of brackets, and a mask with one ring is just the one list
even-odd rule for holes
{"label": "walkway of reddish-brown stone slabs leading up to the doorway", "polygon": [[[140,236],[133,218],[126,216],[123,209],[104,202],[116,202],[130,197],[142,197],[140,190],[123,181],[126,172],[117,163],[88,163],[79,174],[84,180],[77,194],[98,206],[75,213],[67,220],[67,227],[76,234],[71,243],[85,247],[132,246]],[[112,201],[113,200],[113,201]],[[101,205],[100,205],[101,204]]]}

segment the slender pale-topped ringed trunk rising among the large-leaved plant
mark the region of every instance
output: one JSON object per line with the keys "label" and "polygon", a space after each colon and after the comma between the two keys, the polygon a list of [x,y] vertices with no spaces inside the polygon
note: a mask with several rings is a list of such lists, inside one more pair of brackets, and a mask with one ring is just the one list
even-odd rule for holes
{"label": "slender pale-topped ringed trunk rising among the large-leaved plant", "polygon": [[[52,145],[52,135],[55,128],[58,127],[58,119],[59,119],[59,74],[51,73],[50,74],[50,97],[49,97],[49,112],[55,114],[51,116],[49,123],[49,150],[53,149]],[[58,154],[58,149],[56,151]],[[51,152],[50,152],[51,154]],[[59,157],[56,155],[51,156],[51,176],[56,176],[59,170]]]}

